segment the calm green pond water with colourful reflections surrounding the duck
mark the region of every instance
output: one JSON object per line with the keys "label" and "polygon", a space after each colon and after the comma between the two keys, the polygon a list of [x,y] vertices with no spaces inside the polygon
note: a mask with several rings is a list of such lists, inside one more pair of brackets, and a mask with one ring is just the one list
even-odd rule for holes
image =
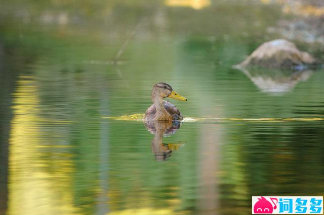
{"label": "calm green pond water with colourful reflections surrounding the duck", "polygon": [[[75,25],[3,9],[0,213],[250,214],[253,195],[324,194],[323,71],[232,68],[276,37],[277,7],[114,4]],[[145,125],[162,81],[185,120]]]}

